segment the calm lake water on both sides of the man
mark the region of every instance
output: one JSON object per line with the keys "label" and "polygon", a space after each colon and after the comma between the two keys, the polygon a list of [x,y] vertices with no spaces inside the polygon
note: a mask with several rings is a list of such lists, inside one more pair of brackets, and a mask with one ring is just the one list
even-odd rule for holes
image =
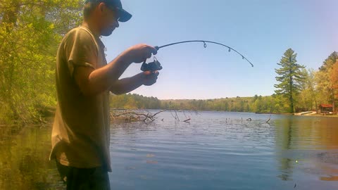
{"label": "calm lake water on both sides of the man", "polygon": [[[338,118],[157,116],[111,125],[112,189],[338,189]],[[26,127],[2,141],[0,189],[63,189],[48,161],[50,132]]]}

